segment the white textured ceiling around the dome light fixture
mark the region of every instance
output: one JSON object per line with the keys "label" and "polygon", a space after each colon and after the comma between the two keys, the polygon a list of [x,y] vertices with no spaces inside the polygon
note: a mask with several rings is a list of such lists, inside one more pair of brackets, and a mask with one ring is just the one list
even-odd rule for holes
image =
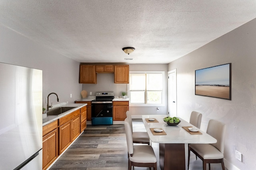
{"label": "white textured ceiling around the dome light fixture", "polygon": [[254,18],[255,0],[0,0],[2,25],[82,63],[170,63]]}

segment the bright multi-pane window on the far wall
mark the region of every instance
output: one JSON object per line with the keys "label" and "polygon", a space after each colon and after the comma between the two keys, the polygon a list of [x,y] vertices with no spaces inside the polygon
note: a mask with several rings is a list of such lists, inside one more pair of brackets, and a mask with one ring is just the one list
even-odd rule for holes
{"label": "bright multi-pane window on the far wall", "polygon": [[164,106],[164,71],[130,72],[131,106]]}

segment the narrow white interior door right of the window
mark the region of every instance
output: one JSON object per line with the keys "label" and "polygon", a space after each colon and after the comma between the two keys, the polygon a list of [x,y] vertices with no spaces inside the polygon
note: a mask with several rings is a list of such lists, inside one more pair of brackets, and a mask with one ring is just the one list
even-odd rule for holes
{"label": "narrow white interior door right of the window", "polygon": [[168,115],[177,116],[176,69],[168,71]]}

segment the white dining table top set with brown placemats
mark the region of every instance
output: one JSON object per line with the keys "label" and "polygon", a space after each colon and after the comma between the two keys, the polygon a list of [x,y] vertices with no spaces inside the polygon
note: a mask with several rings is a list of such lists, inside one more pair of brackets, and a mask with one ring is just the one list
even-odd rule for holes
{"label": "white dining table top set with brown placemats", "polygon": [[[177,126],[169,126],[163,121],[166,115],[142,115],[142,120],[148,132],[149,138],[154,143],[216,143],[217,140],[208,135],[204,131],[199,130],[202,135],[191,135],[183,126],[192,126],[187,121],[180,119],[180,123]],[[148,123],[146,118],[155,118],[159,123]],[[153,135],[150,128],[162,128],[167,135]]]}

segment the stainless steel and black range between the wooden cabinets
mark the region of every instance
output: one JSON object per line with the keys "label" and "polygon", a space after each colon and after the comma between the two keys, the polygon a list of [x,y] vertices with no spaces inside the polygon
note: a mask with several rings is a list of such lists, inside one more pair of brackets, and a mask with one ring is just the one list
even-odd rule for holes
{"label": "stainless steel and black range between the wooden cabinets", "polygon": [[114,92],[96,92],[92,100],[92,125],[113,124]]}

